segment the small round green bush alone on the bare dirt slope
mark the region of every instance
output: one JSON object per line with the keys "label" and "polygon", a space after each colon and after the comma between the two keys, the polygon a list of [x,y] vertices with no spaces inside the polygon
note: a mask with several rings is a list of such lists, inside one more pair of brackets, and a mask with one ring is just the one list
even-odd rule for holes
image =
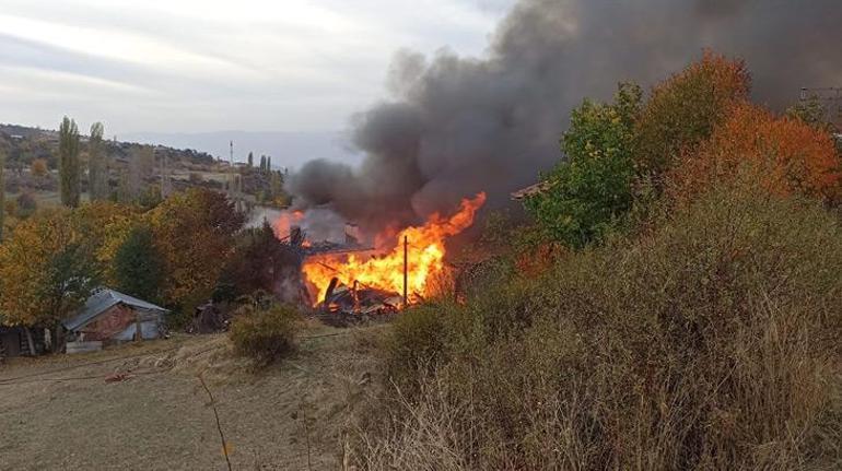
{"label": "small round green bush alone on the bare dirt slope", "polygon": [[266,366],[295,350],[299,320],[299,313],[288,306],[247,311],[234,317],[229,337],[238,354]]}

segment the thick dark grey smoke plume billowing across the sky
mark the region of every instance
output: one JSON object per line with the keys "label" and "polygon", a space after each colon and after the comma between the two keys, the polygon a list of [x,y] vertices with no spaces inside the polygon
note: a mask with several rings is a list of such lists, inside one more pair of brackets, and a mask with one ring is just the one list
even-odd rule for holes
{"label": "thick dark grey smoke plume billowing across the sky", "polygon": [[296,204],[329,204],[376,231],[489,192],[500,205],[561,155],[583,97],[652,85],[703,48],[747,60],[773,108],[802,86],[842,85],[839,0],[522,0],[487,57],[397,55],[391,97],[352,120],[360,167],[314,161],[288,182]]}

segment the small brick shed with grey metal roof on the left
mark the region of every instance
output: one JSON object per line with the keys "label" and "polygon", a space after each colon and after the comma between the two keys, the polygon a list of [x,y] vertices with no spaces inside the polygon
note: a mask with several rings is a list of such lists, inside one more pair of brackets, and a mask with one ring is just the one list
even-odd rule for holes
{"label": "small brick shed with grey metal roof on the left", "polygon": [[68,340],[77,342],[157,339],[162,335],[166,313],[168,310],[161,306],[103,289],[87,298],[75,317],[62,325],[68,330]]}

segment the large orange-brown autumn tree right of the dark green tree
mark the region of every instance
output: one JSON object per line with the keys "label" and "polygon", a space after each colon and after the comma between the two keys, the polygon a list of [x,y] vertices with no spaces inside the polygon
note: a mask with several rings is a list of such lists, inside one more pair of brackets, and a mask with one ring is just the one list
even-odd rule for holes
{"label": "large orange-brown autumn tree right of the dark green tree", "polygon": [[203,188],[169,197],[149,217],[164,261],[163,299],[189,311],[213,292],[245,217],[224,195]]}

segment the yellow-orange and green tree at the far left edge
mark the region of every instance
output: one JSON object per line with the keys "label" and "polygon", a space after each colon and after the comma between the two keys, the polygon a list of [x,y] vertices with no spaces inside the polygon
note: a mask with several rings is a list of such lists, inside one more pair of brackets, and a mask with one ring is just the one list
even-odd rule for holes
{"label": "yellow-orange and green tree at the far left edge", "polygon": [[92,247],[73,227],[71,213],[39,213],[0,245],[0,313],[11,326],[51,327],[61,349],[59,322],[98,284]]}

